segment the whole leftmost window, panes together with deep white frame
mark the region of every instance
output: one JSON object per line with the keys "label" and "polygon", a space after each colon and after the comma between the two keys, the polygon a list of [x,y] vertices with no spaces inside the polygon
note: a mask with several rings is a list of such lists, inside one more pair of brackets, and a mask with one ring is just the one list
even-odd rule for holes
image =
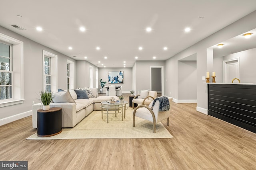
{"label": "whole leftmost window, panes together with deep white frame", "polygon": [[23,103],[23,42],[0,33],[0,107]]}

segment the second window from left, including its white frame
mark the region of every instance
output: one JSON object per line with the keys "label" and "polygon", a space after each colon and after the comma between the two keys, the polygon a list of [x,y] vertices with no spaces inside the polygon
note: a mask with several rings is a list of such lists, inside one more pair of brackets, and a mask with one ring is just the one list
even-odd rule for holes
{"label": "second window from left, including its white frame", "polygon": [[46,92],[57,91],[58,82],[58,56],[48,51],[43,50],[43,68],[44,68],[44,85],[43,89]]}

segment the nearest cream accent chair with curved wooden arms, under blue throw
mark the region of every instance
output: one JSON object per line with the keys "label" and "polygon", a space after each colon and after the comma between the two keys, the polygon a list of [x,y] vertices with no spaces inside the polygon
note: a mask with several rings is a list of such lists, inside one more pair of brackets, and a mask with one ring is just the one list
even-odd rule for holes
{"label": "nearest cream accent chair with curved wooden arms, under blue throw", "polygon": [[[170,104],[172,103],[172,98],[168,97]],[[135,127],[135,116],[140,117],[142,119],[146,119],[153,123],[153,133],[156,133],[156,123],[167,119],[167,125],[169,126],[169,117],[171,114],[171,109],[168,111],[159,111],[159,101],[157,100],[153,109],[151,109],[153,105],[153,101],[149,106],[140,105],[136,107],[133,111],[132,117],[132,126]]]}

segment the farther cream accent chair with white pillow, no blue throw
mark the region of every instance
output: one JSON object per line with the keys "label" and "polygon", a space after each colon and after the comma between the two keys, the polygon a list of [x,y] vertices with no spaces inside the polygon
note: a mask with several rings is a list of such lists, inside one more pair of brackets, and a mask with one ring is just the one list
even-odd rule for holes
{"label": "farther cream accent chair with white pillow, no blue throw", "polygon": [[134,103],[148,106],[156,98],[156,96],[157,92],[155,91],[142,90],[140,94],[134,96],[132,99],[132,108],[134,108]]}

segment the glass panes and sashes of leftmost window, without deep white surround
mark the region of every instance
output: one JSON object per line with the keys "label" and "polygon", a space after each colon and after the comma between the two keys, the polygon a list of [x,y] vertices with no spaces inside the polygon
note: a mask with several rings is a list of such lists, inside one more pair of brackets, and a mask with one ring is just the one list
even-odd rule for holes
{"label": "glass panes and sashes of leftmost window, without deep white surround", "polygon": [[12,45],[0,43],[0,100],[12,98]]}

